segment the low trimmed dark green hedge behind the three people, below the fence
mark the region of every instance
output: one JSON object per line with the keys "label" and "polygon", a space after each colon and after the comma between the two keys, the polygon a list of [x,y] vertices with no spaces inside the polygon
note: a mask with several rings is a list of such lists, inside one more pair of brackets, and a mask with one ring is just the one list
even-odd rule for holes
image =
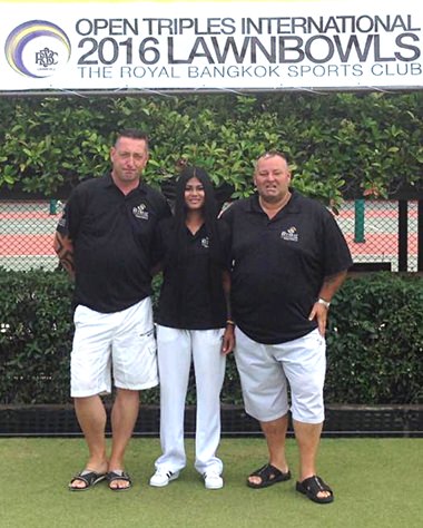
{"label": "low trimmed dark green hedge behind the three people, below the fence", "polygon": [[[70,401],[70,296],[65,272],[0,270],[0,403]],[[331,306],[326,402],[423,403],[422,321],[419,276],[348,277]],[[158,390],[142,400],[157,403]],[[242,401],[233,355],[223,401]]]}

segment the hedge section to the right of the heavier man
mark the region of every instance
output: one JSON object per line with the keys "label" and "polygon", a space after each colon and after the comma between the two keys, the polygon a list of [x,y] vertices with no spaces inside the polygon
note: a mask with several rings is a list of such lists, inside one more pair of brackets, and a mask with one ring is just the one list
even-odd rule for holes
{"label": "hedge section to the right of the heavier man", "polygon": [[327,401],[423,402],[423,282],[350,278],[331,305]]}

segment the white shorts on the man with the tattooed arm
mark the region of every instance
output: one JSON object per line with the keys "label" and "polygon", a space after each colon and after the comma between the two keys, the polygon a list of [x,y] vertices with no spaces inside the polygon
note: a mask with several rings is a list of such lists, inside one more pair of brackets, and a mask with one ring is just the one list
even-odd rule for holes
{"label": "white shorts on the man with the tattooed arm", "polygon": [[158,384],[151,299],[121,312],[99,313],[79,305],[75,311],[70,393],[83,398],[115,387],[142,390]]}

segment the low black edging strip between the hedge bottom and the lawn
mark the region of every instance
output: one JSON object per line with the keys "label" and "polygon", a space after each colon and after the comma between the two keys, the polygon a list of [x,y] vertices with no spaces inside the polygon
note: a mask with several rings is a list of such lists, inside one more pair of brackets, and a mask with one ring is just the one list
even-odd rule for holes
{"label": "low black edging strip between the hedge bottom and the lawn", "polygon": [[[107,407],[107,405],[106,405]],[[107,407],[107,436],[110,408]],[[423,405],[326,405],[323,437],[423,437]],[[134,436],[158,437],[158,405],[142,405]],[[196,408],[185,410],[185,434],[193,438]],[[223,437],[260,437],[259,423],[240,405],[222,405]],[[1,437],[81,437],[73,405],[0,405]],[[289,423],[288,436],[293,437]]]}

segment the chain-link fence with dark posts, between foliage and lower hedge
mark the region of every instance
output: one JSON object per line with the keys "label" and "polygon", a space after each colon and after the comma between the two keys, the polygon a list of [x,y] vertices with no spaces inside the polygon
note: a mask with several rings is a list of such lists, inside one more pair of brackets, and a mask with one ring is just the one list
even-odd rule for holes
{"label": "chain-link fence with dark posts, between foliage and lower hedge", "polygon": [[[56,199],[0,199],[0,266],[55,270],[62,208]],[[423,271],[423,201],[346,201],[336,221],[355,270]]]}

